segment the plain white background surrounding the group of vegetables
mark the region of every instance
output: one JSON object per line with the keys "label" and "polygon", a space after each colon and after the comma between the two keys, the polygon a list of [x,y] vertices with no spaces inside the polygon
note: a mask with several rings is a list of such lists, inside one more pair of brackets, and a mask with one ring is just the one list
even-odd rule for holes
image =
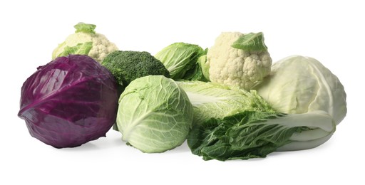
{"label": "plain white background surrounding the group of vegetables", "polygon": [[[361,1],[1,1],[0,184],[364,184],[364,6]],[[163,154],[119,132],[71,149],[30,136],[17,117],[21,85],[73,25],[97,25],[120,50],[212,46],[222,31],[262,31],[274,61],[317,58],[338,76],[348,114],[320,147],[265,159],[203,161],[186,144]]]}

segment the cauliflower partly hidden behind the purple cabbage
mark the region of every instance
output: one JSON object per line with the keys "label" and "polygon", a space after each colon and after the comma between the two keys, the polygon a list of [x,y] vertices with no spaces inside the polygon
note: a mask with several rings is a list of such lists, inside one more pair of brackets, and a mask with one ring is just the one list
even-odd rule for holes
{"label": "cauliflower partly hidden behind the purple cabbage", "polygon": [[[74,27],[76,28],[75,33],[68,36],[63,43],[53,50],[52,60],[59,56],[68,56],[68,54],[86,54],[101,63],[109,53],[118,51],[117,46],[111,43],[106,36],[95,33],[95,25],[78,23]],[[92,43],[90,47],[86,47],[86,53],[83,53],[85,50],[79,52],[80,48],[76,48],[81,47],[82,43]]]}

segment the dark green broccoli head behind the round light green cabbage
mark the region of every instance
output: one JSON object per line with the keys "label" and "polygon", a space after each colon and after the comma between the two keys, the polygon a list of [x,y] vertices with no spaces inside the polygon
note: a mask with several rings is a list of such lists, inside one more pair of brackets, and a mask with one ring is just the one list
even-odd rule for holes
{"label": "dark green broccoli head behind the round light green cabbage", "polygon": [[164,75],[170,78],[165,65],[146,51],[113,51],[101,62],[115,80],[127,86],[131,81],[147,75]]}

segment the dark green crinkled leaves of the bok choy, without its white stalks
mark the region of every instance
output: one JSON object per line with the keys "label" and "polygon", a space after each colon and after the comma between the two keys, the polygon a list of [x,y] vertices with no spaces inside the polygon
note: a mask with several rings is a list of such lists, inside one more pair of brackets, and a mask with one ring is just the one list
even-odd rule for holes
{"label": "dark green crinkled leaves of the bok choy, without its white stalks", "polygon": [[250,159],[266,157],[278,147],[289,143],[294,132],[306,127],[271,124],[270,120],[285,115],[271,112],[240,112],[230,117],[210,119],[194,125],[187,137],[192,154],[205,160]]}

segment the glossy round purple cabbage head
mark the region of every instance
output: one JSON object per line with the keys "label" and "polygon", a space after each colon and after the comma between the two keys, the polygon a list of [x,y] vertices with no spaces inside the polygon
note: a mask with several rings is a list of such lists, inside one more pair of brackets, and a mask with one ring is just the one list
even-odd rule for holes
{"label": "glossy round purple cabbage head", "polygon": [[88,56],[70,55],[38,67],[24,82],[18,116],[41,142],[78,147],[105,137],[117,108],[111,73]]}

